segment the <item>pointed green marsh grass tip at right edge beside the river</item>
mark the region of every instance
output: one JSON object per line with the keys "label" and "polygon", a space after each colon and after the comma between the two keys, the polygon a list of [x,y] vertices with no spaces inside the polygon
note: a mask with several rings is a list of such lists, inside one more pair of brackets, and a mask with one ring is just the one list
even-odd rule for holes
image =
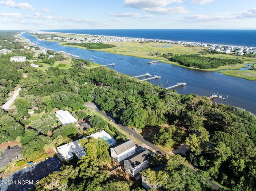
{"label": "pointed green marsh grass tip at right edge beside the river", "polygon": [[228,76],[234,76],[238,78],[244,78],[247,80],[256,81],[256,71],[252,70],[228,70],[228,71],[220,71],[220,73]]}

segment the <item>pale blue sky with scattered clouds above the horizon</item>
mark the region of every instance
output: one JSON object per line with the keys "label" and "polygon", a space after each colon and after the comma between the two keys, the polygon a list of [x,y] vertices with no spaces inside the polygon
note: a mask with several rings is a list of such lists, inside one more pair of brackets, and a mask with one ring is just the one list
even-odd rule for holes
{"label": "pale blue sky with scattered clouds above the horizon", "polygon": [[0,0],[0,30],[253,29],[255,0]]}

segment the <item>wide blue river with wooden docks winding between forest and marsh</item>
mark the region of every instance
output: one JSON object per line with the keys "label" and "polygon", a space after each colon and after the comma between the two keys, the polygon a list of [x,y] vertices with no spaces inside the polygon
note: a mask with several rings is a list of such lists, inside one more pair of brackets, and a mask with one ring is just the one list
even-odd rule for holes
{"label": "wide blue river with wooden docks winding between forest and marsh", "polygon": [[159,65],[148,64],[148,61],[152,61],[149,59],[64,47],[57,42],[38,40],[36,37],[28,35],[28,33],[24,33],[22,36],[42,47],[54,51],[65,51],[78,55],[82,59],[94,59],[93,62],[101,65],[115,63],[114,66],[108,67],[126,75],[136,76],[145,73],[159,75],[161,76],[160,79],[149,82],[156,85],[161,84],[163,87],[169,87],[178,82],[186,82],[185,87],[176,88],[178,93],[194,93],[200,96],[210,96],[218,93],[226,100],[214,98],[213,102],[241,107],[256,114],[256,81],[226,76],[218,72],[186,69],[162,62],[159,62]]}

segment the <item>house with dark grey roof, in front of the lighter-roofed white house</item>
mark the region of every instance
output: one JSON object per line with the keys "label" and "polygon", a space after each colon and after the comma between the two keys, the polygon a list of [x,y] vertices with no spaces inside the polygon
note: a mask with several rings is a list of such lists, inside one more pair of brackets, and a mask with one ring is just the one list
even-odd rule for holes
{"label": "house with dark grey roof, in front of the lighter-roofed white house", "polygon": [[138,174],[140,171],[148,167],[148,157],[150,152],[145,150],[136,156],[124,160],[124,169],[132,176]]}

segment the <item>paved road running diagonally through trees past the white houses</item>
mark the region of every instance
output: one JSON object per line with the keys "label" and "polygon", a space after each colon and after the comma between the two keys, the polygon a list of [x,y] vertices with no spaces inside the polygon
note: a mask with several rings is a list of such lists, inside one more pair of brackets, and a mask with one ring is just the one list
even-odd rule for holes
{"label": "paved road running diagonally through trees past the white houses", "polygon": [[[162,150],[161,148],[159,148],[158,146],[148,142],[147,140],[145,140],[140,134],[136,133],[134,130],[131,130],[130,128],[128,128],[127,126],[123,126],[122,124],[120,124],[117,120],[114,120],[113,118],[111,118],[111,116],[108,116],[104,111],[99,110],[97,108],[97,106],[93,103],[84,103],[84,106],[86,107],[90,107],[93,108],[94,110],[96,110],[97,112],[99,112],[100,114],[102,114],[103,116],[105,116],[106,118],[108,118],[109,120],[112,120],[113,122],[115,122],[120,128],[122,128],[123,130],[125,130],[126,132],[128,132],[129,134],[131,134],[132,136],[134,136],[135,138],[137,138],[138,140],[140,140],[142,143],[146,144],[147,146],[149,146],[150,148],[156,150],[156,151],[160,151],[162,154],[167,154],[168,156],[171,156],[171,154],[169,154],[168,152]],[[192,171],[196,172],[196,169],[191,165],[188,164],[188,167],[190,167],[192,169]],[[218,190],[220,187],[219,185],[217,185],[216,183],[210,181],[210,184],[212,185],[212,187],[215,190]]]}

